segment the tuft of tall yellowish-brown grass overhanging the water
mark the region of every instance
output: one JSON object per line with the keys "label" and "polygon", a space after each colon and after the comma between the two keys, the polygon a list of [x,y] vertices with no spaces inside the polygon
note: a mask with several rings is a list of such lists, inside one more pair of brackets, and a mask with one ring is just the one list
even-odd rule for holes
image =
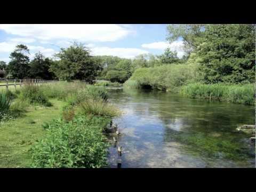
{"label": "tuft of tall yellowish-brown grass overhanging the water", "polygon": [[98,116],[115,117],[120,115],[120,111],[103,99],[87,99],[80,104],[82,114],[93,114]]}

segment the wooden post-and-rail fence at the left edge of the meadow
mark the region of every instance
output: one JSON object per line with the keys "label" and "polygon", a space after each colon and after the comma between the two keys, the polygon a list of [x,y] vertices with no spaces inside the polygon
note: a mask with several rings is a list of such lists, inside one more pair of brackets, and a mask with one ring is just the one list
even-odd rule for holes
{"label": "wooden post-and-rail fence at the left edge of the meadow", "polygon": [[0,78],[0,87],[5,86],[6,90],[9,89],[9,86],[14,86],[15,90],[17,89],[17,86],[22,86],[24,84],[34,84],[34,85],[42,85],[44,83],[55,83],[59,82],[56,80],[45,80],[45,79],[5,79]]}

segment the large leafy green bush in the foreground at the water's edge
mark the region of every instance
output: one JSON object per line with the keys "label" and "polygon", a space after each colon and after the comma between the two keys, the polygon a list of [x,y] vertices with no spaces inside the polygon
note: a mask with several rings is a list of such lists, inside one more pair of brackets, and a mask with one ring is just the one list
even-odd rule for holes
{"label": "large leafy green bush in the foreground at the water's edge", "polygon": [[32,148],[33,167],[105,167],[107,143],[102,121],[76,117],[73,122],[46,124],[46,136]]}

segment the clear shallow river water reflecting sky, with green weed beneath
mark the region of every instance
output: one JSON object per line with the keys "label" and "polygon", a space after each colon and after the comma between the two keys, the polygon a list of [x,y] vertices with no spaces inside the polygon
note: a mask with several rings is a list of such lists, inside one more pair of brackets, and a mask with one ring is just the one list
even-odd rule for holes
{"label": "clear shallow river water reflecting sky, with green weed beneath", "polygon": [[162,91],[109,94],[124,113],[114,120],[121,135],[109,148],[110,167],[117,167],[118,159],[122,167],[255,167],[251,135],[235,132],[239,124],[255,123],[253,106]]}

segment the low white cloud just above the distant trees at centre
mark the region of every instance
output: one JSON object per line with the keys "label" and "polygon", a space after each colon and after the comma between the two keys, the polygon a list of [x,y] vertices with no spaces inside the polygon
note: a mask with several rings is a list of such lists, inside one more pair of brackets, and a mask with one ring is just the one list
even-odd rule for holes
{"label": "low white cloud just above the distant trees at centre", "polygon": [[149,53],[146,50],[136,48],[110,48],[110,47],[93,47],[93,55],[113,55],[121,58],[132,59],[139,54]]}

